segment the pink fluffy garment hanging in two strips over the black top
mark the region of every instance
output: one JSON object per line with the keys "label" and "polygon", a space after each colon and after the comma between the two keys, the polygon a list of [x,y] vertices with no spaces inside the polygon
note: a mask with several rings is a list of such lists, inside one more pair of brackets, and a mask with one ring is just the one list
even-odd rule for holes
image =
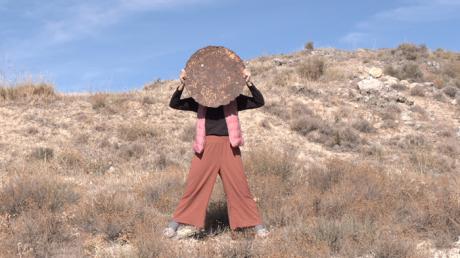
{"label": "pink fluffy garment hanging in two strips over the black top", "polygon": [[[238,119],[238,107],[235,100],[232,100],[229,104],[224,105],[224,114],[230,144],[233,147],[242,146],[244,144],[244,140],[241,132],[240,121]],[[198,104],[195,142],[193,143],[193,149],[196,153],[201,153],[204,149],[206,139],[205,119],[206,107]]]}

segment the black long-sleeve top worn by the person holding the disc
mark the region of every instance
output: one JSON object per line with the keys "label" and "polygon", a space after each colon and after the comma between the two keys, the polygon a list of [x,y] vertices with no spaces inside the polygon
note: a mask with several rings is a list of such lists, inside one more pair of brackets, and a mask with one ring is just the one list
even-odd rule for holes
{"label": "black long-sleeve top worn by the person holding the disc", "polygon": [[[256,86],[254,86],[254,84],[249,86],[249,90],[251,91],[252,97],[243,94],[236,97],[238,111],[258,108],[265,104],[262,93],[256,88]],[[174,109],[198,112],[198,102],[191,97],[181,99],[180,96],[182,95],[182,91],[183,89],[176,89],[171,97],[169,106]],[[216,108],[207,107],[205,121],[206,135],[228,135],[227,123],[225,121],[222,105]]]}

